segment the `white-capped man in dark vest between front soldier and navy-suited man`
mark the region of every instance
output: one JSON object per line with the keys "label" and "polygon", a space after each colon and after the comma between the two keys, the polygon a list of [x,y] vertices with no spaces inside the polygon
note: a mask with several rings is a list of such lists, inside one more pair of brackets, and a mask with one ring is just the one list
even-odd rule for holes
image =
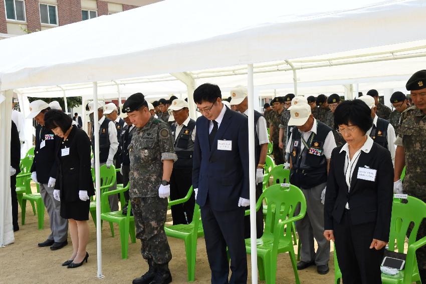
{"label": "white-capped man in dark vest between front soldier and navy-suited man", "polygon": [[[195,142],[195,121],[189,118],[188,103],[181,99],[170,102],[168,108],[176,122],[171,125],[177,161],[170,177],[170,200],[185,197],[192,185],[192,156]],[[171,116],[170,116],[171,117]],[[195,206],[194,193],[188,201],[171,206],[173,225],[189,224]]]}

